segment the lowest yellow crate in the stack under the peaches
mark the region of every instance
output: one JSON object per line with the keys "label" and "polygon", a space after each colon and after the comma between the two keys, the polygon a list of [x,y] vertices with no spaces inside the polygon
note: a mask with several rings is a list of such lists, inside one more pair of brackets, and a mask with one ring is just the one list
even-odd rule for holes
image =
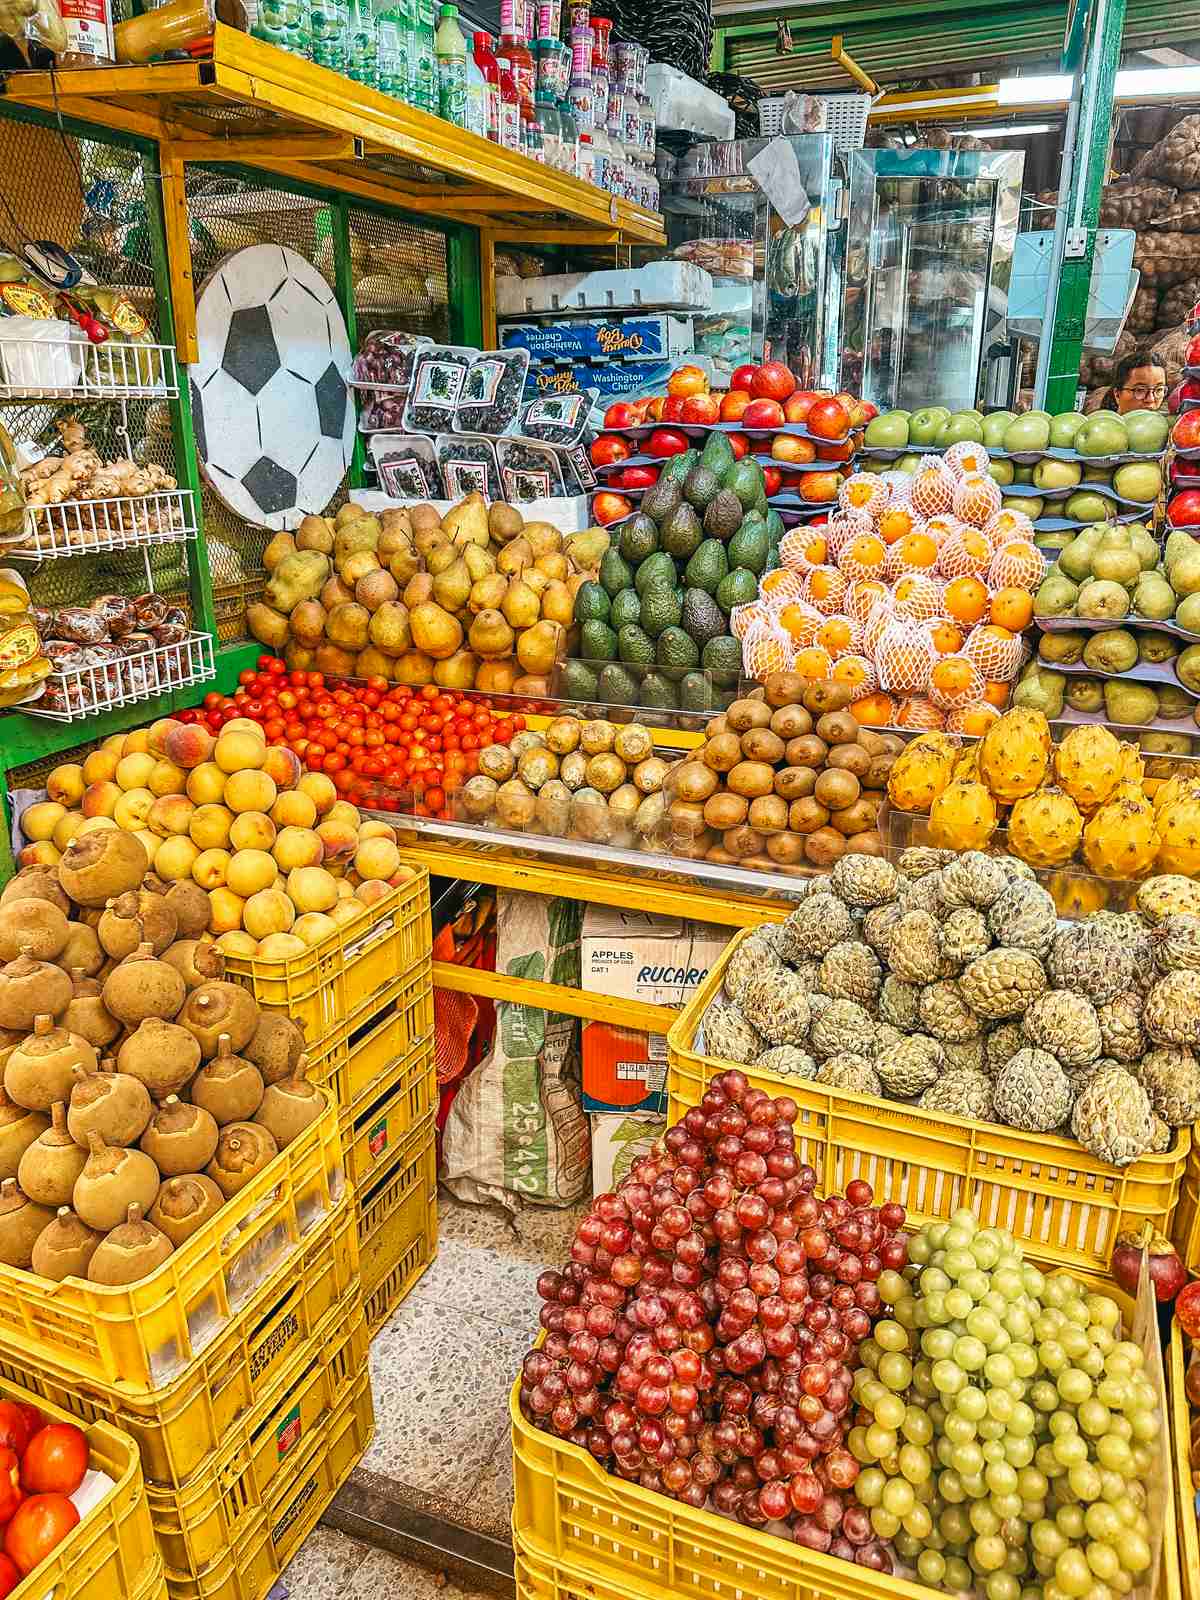
{"label": "lowest yellow crate in the stack under the peaches", "polygon": [[[371,1333],[437,1254],[437,1136],[430,1114],[358,1206],[358,1274]],[[382,1293],[381,1293],[382,1291]]]}

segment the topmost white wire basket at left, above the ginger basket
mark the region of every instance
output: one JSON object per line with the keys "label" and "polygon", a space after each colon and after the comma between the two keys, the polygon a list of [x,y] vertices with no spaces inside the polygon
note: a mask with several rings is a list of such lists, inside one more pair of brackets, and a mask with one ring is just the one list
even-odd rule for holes
{"label": "topmost white wire basket at left, above the ginger basket", "polygon": [[170,344],[6,339],[0,323],[0,400],[154,400],[178,394]]}

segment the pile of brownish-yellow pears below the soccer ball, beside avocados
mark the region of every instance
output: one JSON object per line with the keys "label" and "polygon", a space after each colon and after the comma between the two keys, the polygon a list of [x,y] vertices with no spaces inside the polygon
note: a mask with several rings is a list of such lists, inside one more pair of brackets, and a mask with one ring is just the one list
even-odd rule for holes
{"label": "pile of brownish-yellow pears below the soccer ball, beside avocados", "polygon": [[608,534],[563,534],[480,494],[379,517],[349,502],[278,533],[250,632],[296,670],[544,694]]}

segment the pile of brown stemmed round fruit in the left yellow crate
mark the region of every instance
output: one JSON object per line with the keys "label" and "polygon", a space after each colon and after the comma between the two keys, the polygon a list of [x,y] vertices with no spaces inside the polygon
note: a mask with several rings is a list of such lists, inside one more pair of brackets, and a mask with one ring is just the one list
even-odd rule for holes
{"label": "pile of brown stemmed round fruit in the left yellow crate", "polygon": [[136,1283],[325,1101],[304,1034],[224,979],[210,898],[82,834],[0,893],[0,1261]]}

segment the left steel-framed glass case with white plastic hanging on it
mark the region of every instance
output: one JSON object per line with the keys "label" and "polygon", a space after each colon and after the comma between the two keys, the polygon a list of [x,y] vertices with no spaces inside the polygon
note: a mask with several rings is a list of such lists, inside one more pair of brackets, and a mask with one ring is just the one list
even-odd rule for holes
{"label": "left steel-framed glass case with white plastic hanging on it", "polygon": [[[784,158],[768,178],[784,214],[750,171],[770,144],[795,157],[794,170]],[[712,274],[714,304],[696,320],[696,352],[712,358],[718,386],[741,362],[765,360],[784,362],[806,387],[835,382],[837,302],[824,290],[838,189],[824,133],[693,144],[675,158],[662,182],[669,253]]]}

